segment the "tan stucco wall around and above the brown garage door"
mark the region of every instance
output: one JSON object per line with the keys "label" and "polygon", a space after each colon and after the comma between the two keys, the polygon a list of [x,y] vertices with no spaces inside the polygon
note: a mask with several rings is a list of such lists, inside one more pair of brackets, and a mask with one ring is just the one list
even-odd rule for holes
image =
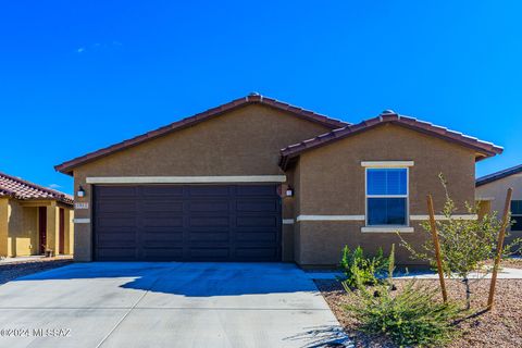
{"label": "tan stucco wall around and above the brown garage door", "polygon": [[[232,111],[76,167],[74,187],[82,185],[86,197],[75,200],[88,202],[89,209],[76,210],[75,217],[92,219],[92,190],[86,177],[281,175],[279,149],[327,130],[265,105]],[[283,228],[284,250],[291,241],[288,228]],[[74,248],[75,260],[91,260],[90,223],[75,225]]]}

